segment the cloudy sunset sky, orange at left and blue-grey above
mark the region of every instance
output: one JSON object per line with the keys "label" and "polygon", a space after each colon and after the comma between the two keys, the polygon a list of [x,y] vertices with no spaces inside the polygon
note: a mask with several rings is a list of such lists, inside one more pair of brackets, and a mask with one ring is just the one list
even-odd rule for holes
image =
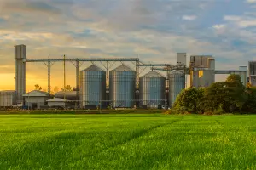
{"label": "cloudy sunset sky, orange at left and blue-grey above", "polygon": [[[216,69],[235,70],[256,59],[256,0],[0,0],[0,90],[15,88],[17,44],[28,59],[139,56],[174,65],[186,52],[188,61],[210,54]],[[47,88],[44,64],[27,63],[26,71],[26,90]],[[74,75],[67,64],[67,84],[74,86]],[[62,63],[51,79],[63,87]]]}

